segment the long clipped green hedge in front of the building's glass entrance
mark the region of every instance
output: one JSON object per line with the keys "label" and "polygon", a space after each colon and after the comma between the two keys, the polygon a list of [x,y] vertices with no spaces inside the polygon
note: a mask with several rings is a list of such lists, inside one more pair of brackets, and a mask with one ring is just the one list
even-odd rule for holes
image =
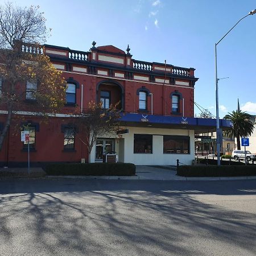
{"label": "long clipped green hedge in front of the building's glass entrance", "polygon": [[131,176],[136,167],[131,163],[61,163],[49,164],[47,175],[85,175],[85,176]]}

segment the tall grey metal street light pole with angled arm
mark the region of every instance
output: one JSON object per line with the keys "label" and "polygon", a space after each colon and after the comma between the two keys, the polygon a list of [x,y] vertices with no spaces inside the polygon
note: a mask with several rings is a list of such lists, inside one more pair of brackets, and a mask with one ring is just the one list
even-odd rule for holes
{"label": "tall grey metal street light pole with angled arm", "polygon": [[241,22],[242,19],[246,18],[249,15],[253,15],[256,13],[256,9],[253,11],[250,11],[249,14],[245,15],[243,18],[238,20],[236,24],[218,42],[215,44],[215,82],[216,82],[216,145],[217,145],[217,164],[220,166],[220,146],[221,146],[221,130],[220,130],[220,114],[218,112],[218,76],[217,76],[217,45],[221,42],[222,39],[225,38],[226,35],[229,34],[230,31],[233,30],[234,27],[237,26],[238,23]]}

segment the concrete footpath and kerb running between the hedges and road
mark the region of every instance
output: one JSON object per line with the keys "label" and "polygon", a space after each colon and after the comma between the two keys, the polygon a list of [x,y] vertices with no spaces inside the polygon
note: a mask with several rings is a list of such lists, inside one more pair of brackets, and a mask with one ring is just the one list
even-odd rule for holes
{"label": "concrete footpath and kerb running between the hedges and road", "polygon": [[0,168],[0,179],[7,177],[41,177],[47,179],[86,179],[86,180],[256,180],[256,176],[240,177],[181,177],[176,175],[175,166],[136,166],[136,176],[48,176],[42,168]]}

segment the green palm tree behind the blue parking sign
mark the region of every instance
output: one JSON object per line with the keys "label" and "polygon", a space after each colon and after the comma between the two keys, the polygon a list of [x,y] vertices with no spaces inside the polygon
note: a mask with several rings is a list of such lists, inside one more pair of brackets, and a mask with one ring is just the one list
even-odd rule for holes
{"label": "green palm tree behind the blue parking sign", "polygon": [[240,138],[247,137],[253,133],[255,122],[252,121],[250,114],[241,112],[241,110],[228,113],[224,119],[229,119],[233,122],[232,129],[224,131],[224,135],[228,138],[236,138],[237,149],[241,150]]}

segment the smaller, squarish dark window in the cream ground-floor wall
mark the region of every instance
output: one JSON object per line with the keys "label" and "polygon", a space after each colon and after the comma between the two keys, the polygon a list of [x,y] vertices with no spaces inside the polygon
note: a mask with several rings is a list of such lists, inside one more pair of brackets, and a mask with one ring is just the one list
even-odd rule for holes
{"label": "smaller, squarish dark window in the cream ground-floor wall", "polygon": [[152,154],[152,135],[134,134],[134,154]]}

